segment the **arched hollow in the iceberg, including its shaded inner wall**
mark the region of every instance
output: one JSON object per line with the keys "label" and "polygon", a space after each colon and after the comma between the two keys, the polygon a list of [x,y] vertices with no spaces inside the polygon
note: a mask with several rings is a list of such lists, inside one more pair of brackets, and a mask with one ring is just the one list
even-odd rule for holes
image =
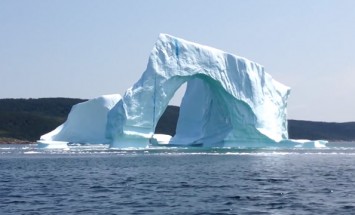
{"label": "arched hollow in the iceberg, including its shaded inner wall", "polygon": [[179,88],[181,93],[186,85],[180,107],[167,106],[155,127],[155,134],[173,136],[170,144],[176,145],[223,144],[233,126],[230,107],[223,96],[226,92],[218,84],[205,75],[189,77]]}

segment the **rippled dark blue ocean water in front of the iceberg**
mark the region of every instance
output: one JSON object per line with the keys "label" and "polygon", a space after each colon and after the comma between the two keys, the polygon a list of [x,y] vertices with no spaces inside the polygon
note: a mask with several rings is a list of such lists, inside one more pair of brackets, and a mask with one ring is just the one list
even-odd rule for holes
{"label": "rippled dark blue ocean water in front of the iceberg", "polygon": [[324,149],[0,145],[0,214],[354,214],[355,143]]}

